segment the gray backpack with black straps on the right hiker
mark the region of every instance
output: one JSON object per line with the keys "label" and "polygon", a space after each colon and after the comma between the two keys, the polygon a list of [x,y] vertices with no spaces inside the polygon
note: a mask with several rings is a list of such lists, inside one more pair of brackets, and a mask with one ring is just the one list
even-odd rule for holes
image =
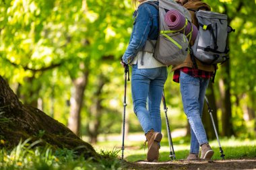
{"label": "gray backpack with black straps on the right hiker", "polygon": [[195,12],[199,31],[195,44],[191,46],[193,56],[206,64],[218,64],[228,60],[226,39],[234,31],[227,24],[227,15],[212,11]]}

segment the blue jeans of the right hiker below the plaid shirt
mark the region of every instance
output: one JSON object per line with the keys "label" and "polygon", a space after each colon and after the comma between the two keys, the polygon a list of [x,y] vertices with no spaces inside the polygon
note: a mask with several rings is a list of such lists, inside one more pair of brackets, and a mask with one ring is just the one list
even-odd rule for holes
{"label": "blue jeans of the right hiker below the plaid shirt", "polygon": [[183,109],[191,126],[190,153],[198,154],[199,146],[208,142],[201,116],[209,79],[192,77],[181,71],[180,84]]}

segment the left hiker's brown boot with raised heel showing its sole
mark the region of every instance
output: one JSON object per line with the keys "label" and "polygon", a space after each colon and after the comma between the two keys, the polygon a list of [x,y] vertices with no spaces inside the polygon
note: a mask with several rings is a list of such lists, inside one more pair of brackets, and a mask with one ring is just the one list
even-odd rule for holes
{"label": "left hiker's brown boot with raised heel showing its sole", "polygon": [[154,130],[150,130],[146,134],[146,139],[148,141],[148,154],[147,161],[153,162],[158,161],[159,158],[159,144],[162,140],[162,134],[159,132],[154,132]]}

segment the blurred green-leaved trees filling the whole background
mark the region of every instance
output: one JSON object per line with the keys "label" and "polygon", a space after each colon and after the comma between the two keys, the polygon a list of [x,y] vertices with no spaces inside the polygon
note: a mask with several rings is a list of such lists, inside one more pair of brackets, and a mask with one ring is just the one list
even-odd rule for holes
{"label": "blurred green-leaved trees filling the whole background", "polygon": [[[218,129],[222,136],[255,137],[256,2],[205,2],[212,11],[226,13],[236,30],[228,39],[230,60],[219,66],[207,91]],[[119,62],[129,42],[133,10],[129,0],[1,0],[0,75],[23,103],[48,113],[77,136],[97,142],[99,134],[120,133],[124,70]],[[126,127],[137,132],[141,127],[129,84]],[[172,73],[165,93],[172,130],[185,128]],[[212,125],[205,123],[205,128],[210,131]]]}

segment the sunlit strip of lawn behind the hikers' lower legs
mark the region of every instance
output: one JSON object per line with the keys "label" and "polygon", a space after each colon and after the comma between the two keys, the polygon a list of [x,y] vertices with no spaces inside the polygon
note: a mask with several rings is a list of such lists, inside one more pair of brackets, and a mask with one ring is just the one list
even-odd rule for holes
{"label": "sunlit strip of lawn behind the hikers' lower legs", "polygon": [[[187,137],[179,137],[174,138],[174,152],[176,159],[186,159],[189,154],[189,138]],[[125,160],[127,161],[138,161],[145,160],[147,154],[147,146],[144,149],[143,140],[141,141],[125,141]],[[238,139],[238,138],[220,138],[220,144],[222,146],[222,150],[224,151],[225,159],[256,159],[256,140],[249,139]],[[211,140],[210,145],[214,150],[213,160],[221,160],[220,157],[220,148],[218,146],[217,140]],[[94,147],[104,148],[106,150],[111,149],[113,147],[120,148],[120,141],[112,141],[112,142],[99,142]],[[163,138],[161,142],[160,148],[160,161],[170,161],[170,147],[168,145],[167,138]],[[119,153],[119,157],[121,157],[121,152]]]}

